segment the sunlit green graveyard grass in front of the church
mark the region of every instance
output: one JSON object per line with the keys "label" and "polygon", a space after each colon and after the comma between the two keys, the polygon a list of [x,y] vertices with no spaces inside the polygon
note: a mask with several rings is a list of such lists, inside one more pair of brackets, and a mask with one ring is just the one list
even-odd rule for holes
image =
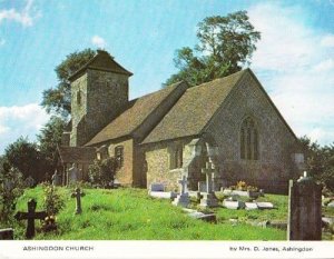
{"label": "sunlit green graveyard grass in front of the church", "polygon": [[[191,196],[187,210],[215,216],[214,220],[200,220],[171,202],[177,198],[158,199],[145,189],[96,189],[86,185],[80,189],[55,188],[63,201],[53,219],[56,228],[46,230],[46,220],[39,217],[45,216],[45,187],[28,188],[17,203],[18,220],[10,226],[16,240],[286,240],[287,196],[266,193],[258,197],[257,202],[271,202],[274,208],[257,210],[224,208],[228,196],[223,191],[215,192],[218,203],[215,207],[200,207],[200,201]],[[27,203],[32,199],[36,208],[30,210],[36,213],[36,236],[31,237],[30,232],[28,237]],[[238,197],[238,200],[247,202],[248,199]],[[323,213],[333,218],[334,208],[327,207]],[[323,236],[323,239],[331,239],[331,236]]]}

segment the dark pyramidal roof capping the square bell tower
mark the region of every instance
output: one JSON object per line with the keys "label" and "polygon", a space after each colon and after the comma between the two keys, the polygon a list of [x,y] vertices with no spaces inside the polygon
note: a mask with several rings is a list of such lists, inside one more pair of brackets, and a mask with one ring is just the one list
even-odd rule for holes
{"label": "dark pyramidal roof capping the square bell tower", "polygon": [[105,50],[97,50],[97,54],[94,56],[86,64],[84,64],[79,70],[72,73],[68,80],[72,81],[87,69],[110,71],[116,73],[124,73],[127,76],[132,76],[132,73],[117,63],[114,58]]}

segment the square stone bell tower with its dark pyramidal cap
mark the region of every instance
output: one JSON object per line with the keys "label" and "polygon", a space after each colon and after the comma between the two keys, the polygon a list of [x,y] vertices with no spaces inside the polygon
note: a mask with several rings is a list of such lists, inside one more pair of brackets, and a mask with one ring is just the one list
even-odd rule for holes
{"label": "square stone bell tower with its dark pyramidal cap", "polygon": [[107,51],[98,50],[69,77],[71,83],[70,146],[80,147],[115,119],[129,101],[129,77]]}

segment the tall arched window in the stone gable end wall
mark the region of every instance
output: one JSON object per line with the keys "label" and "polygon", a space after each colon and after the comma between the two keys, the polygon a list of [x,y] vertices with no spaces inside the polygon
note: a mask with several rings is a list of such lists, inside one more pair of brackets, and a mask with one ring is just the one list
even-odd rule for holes
{"label": "tall arched window in the stone gable end wall", "polygon": [[258,130],[250,117],[243,121],[240,129],[240,158],[258,160]]}

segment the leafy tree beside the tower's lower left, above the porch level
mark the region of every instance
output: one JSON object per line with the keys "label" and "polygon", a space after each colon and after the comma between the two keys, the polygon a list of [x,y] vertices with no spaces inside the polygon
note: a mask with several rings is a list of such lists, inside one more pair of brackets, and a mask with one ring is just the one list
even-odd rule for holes
{"label": "leafy tree beside the tower's lower left, above the porch level", "polygon": [[66,121],[60,117],[53,116],[37,136],[40,152],[43,155],[50,172],[57,168],[57,147],[61,145],[65,127]]}

